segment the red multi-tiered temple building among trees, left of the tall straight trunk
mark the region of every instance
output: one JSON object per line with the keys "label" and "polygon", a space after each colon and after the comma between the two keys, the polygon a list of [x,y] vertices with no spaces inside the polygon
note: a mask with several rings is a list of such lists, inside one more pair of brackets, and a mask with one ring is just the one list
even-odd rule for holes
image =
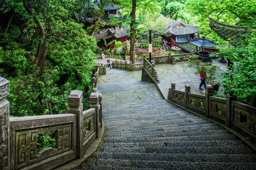
{"label": "red multi-tiered temple building among trees, left of the tall straight trunk", "polygon": [[[100,1],[95,0],[93,4],[88,4],[93,6],[95,9],[99,9]],[[100,40],[97,44],[100,48],[105,49],[105,44],[103,38],[106,40],[106,43],[116,40],[121,42],[126,42],[127,35],[129,35],[130,28],[122,28],[122,22],[126,19],[125,15],[120,15],[121,8],[118,5],[113,3],[107,4],[104,6],[104,16],[100,17],[99,25],[101,28],[99,31],[95,31],[93,36]],[[85,27],[91,26],[95,23],[96,17],[90,17],[86,10],[83,10],[82,14],[78,14],[79,21],[82,22]],[[118,20],[117,25],[111,25],[110,21],[115,18]],[[114,49],[114,42],[108,46],[110,47],[110,51]]]}

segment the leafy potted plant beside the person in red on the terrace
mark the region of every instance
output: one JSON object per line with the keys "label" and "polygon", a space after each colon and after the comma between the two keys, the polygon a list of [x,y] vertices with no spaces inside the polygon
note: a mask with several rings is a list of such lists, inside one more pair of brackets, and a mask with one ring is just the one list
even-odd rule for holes
{"label": "leafy potted plant beside the person in red on the terrace", "polygon": [[214,93],[218,92],[219,83],[215,83],[215,78],[217,76],[217,72],[220,70],[220,66],[217,66],[212,62],[202,62],[198,59],[198,56],[190,56],[188,67],[196,68],[195,75],[206,73],[206,84],[213,87]]}

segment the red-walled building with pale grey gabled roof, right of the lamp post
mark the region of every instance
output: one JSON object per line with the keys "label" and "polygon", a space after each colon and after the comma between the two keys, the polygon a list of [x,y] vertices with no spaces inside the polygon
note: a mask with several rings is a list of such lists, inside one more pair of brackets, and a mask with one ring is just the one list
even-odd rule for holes
{"label": "red-walled building with pale grey gabled roof, right of the lamp post", "polygon": [[195,38],[195,34],[199,32],[199,26],[187,24],[180,19],[176,21],[162,15],[159,18],[168,24],[166,33],[162,36],[162,39],[167,41],[167,45],[171,49],[179,49],[172,40],[175,42],[187,42]]}

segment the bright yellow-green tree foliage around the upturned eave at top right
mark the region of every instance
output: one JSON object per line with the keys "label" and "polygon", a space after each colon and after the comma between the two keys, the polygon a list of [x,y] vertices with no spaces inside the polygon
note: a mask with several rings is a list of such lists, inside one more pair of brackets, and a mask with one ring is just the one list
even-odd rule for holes
{"label": "bright yellow-green tree foliage around the upturned eave at top right", "polygon": [[187,8],[199,16],[199,34],[218,43],[223,41],[209,27],[209,18],[228,25],[255,26],[256,0],[188,0]]}

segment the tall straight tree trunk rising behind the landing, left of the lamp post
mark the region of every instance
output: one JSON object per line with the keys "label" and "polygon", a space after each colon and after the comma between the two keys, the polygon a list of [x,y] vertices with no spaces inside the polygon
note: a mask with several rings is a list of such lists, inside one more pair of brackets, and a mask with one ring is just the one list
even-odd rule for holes
{"label": "tall straight tree trunk rising behind the landing, left of the lamp post", "polygon": [[134,64],[135,63],[135,34],[136,34],[136,3],[137,0],[133,0],[133,8],[132,8],[132,13],[131,13],[131,18],[132,18],[132,23],[130,24],[131,26],[131,42],[130,42],[130,61]]}

